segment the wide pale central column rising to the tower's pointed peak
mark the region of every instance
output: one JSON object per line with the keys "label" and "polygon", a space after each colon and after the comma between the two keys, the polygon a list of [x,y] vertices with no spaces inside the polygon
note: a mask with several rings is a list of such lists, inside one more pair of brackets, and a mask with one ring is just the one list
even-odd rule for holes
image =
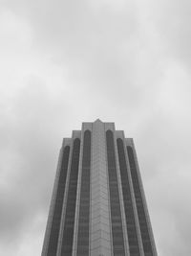
{"label": "wide pale central column rising to the tower's pointed peak", "polygon": [[111,256],[109,191],[104,124],[96,120],[92,136],[91,256]]}

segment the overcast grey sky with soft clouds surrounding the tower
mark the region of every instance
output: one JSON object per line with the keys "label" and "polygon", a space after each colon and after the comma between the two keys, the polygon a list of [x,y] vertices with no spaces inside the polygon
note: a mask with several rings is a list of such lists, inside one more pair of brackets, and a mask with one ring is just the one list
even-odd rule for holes
{"label": "overcast grey sky with soft clouds surrounding the tower", "polygon": [[0,1],[0,254],[40,255],[62,138],[133,137],[159,256],[191,255],[191,1]]}

